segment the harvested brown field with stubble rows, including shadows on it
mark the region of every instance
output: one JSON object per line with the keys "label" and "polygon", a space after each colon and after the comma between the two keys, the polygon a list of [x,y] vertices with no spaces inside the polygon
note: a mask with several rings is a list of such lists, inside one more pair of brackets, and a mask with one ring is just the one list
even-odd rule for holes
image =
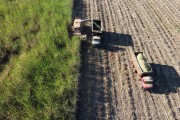
{"label": "harvested brown field with stubble rows, including shadows on it", "polygon": [[[81,44],[77,119],[180,119],[180,1],[74,0],[73,10],[104,31],[101,48]],[[151,63],[153,90],[141,89],[129,48]]]}

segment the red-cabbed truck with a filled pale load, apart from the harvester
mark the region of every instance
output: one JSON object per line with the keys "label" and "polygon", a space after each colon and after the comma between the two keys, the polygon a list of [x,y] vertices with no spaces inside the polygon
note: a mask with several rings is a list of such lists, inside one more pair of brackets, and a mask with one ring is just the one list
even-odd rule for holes
{"label": "red-cabbed truck with a filled pale load, apart from the harvester", "polygon": [[[153,70],[150,66],[150,64],[147,61],[147,58],[145,57],[143,52],[133,52],[133,50],[130,50],[131,56],[132,56],[132,63],[134,66],[135,71],[138,74],[138,78],[141,80],[142,83],[142,88],[147,90],[147,89],[152,89],[153,88]],[[142,66],[140,62],[138,61],[137,57],[138,55],[143,55],[144,60],[147,62],[146,65],[149,67],[148,71],[144,71],[142,69]]]}

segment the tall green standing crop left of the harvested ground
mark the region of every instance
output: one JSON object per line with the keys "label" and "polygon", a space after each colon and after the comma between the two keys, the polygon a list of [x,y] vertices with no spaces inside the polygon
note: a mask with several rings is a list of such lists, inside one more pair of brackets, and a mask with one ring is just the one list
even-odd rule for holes
{"label": "tall green standing crop left of the harvested ground", "polygon": [[74,119],[72,0],[0,0],[0,119]]}

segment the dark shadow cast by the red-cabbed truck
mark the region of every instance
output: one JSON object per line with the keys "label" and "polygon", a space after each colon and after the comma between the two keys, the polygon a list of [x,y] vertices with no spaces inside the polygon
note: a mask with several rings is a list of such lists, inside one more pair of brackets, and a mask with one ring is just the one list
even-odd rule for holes
{"label": "dark shadow cast by the red-cabbed truck", "polygon": [[170,94],[180,92],[180,76],[172,66],[151,64],[154,71],[154,88],[151,93]]}

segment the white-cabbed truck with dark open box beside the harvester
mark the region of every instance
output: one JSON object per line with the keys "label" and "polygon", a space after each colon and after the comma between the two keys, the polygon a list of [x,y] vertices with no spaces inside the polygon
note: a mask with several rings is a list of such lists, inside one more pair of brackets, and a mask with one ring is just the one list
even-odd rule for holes
{"label": "white-cabbed truck with dark open box beside the harvester", "polygon": [[93,20],[92,23],[92,46],[97,47],[101,44],[102,25],[100,20]]}

